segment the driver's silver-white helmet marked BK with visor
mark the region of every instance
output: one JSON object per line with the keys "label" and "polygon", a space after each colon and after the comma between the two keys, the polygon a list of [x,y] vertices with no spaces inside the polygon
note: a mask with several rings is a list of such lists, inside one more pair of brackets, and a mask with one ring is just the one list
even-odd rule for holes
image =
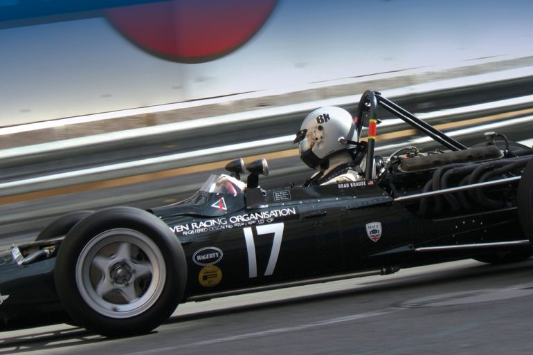
{"label": "driver's silver-white helmet marked BK with visor", "polygon": [[[315,169],[332,154],[353,147],[355,122],[341,107],[320,107],[309,113],[296,133],[293,143],[299,143],[300,159]],[[353,139],[355,138],[355,139]]]}

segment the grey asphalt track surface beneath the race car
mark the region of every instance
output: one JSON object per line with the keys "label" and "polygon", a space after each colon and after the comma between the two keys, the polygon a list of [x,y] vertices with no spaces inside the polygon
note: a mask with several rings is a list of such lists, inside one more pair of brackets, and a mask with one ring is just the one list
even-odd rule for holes
{"label": "grey asphalt track surface beneath the race car", "polygon": [[465,260],[192,302],[135,338],[8,331],[0,354],[531,354],[532,266]]}

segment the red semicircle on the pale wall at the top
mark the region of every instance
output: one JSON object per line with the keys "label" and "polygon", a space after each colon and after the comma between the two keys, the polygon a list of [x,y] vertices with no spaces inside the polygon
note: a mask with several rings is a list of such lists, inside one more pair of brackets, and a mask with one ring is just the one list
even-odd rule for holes
{"label": "red semicircle on the pale wall at the top", "polygon": [[173,0],[105,10],[120,33],[141,48],[178,62],[207,62],[246,43],[276,0]]}

